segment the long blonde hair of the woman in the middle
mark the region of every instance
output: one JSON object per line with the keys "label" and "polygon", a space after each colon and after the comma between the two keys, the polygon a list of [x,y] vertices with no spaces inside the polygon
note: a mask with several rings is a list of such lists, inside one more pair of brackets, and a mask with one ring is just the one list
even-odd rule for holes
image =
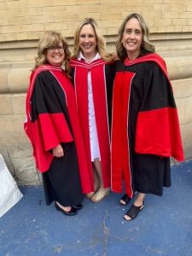
{"label": "long blonde hair of the woman in the middle", "polygon": [[107,53],[105,39],[102,36],[102,33],[100,32],[100,29],[96,23],[96,20],[94,20],[93,18],[85,18],[84,20],[82,20],[80,22],[80,24],[75,32],[75,35],[74,35],[74,45],[73,45],[73,56],[72,57],[76,59],[79,56],[79,53],[81,51],[81,49],[79,47],[80,31],[84,25],[88,25],[88,24],[90,24],[90,26],[92,26],[94,32],[96,33],[96,51],[99,53],[99,55],[101,55],[101,58],[104,61],[111,61],[113,59],[113,56],[111,54]]}

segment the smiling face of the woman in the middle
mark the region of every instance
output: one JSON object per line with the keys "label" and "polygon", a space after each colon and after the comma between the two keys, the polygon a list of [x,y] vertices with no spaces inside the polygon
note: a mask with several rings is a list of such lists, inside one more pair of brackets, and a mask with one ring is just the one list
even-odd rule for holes
{"label": "smiling face of the woman in the middle", "polygon": [[79,47],[85,58],[91,59],[96,55],[96,32],[90,24],[82,26],[79,32]]}

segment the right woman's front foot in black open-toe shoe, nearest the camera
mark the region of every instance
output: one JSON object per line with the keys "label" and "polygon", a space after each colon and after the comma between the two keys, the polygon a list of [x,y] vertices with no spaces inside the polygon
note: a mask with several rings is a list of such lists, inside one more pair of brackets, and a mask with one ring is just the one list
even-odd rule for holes
{"label": "right woman's front foot in black open-toe shoe, nearest the camera", "polygon": [[128,212],[124,215],[125,220],[130,221],[137,218],[137,214],[143,210],[145,194],[138,193],[134,204],[131,206]]}

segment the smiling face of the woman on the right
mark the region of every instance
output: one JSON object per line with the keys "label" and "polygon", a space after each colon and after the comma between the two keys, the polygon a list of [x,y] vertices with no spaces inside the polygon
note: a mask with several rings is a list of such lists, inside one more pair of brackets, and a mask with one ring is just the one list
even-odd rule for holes
{"label": "smiling face of the woman on the right", "polygon": [[130,60],[134,60],[140,54],[143,42],[143,30],[137,18],[131,18],[125,24],[121,43]]}

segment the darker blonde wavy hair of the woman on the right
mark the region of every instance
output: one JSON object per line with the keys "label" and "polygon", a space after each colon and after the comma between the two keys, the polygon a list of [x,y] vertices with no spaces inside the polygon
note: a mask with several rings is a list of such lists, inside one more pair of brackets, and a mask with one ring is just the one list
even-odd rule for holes
{"label": "darker blonde wavy hair of the woman on the right", "polygon": [[123,21],[123,23],[121,24],[120,28],[119,28],[119,35],[118,35],[118,40],[116,42],[116,50],[117,50],[117,55],[119,57],[119,60],[124,61],[127,53],[126,50],[123,46],[123,44],[121,43],[122,38],[123,38],[123,33],[125,31],[125,26],[128,20],[131,20],[132,18],[136,18],[140,24],[140,26],[142,27],[142,32],[143,32],[143,43],[141,46],[141,53],[145,52],[145,51],[149,51],[149,52],[154,52],[154,45],[151,44],[148,40],[148,34],[149,34],[149,30],[148,30],[148,26],[145,23],[143,16],[133,13],[131,15],[128,15],[125,17],[125,20]]}

